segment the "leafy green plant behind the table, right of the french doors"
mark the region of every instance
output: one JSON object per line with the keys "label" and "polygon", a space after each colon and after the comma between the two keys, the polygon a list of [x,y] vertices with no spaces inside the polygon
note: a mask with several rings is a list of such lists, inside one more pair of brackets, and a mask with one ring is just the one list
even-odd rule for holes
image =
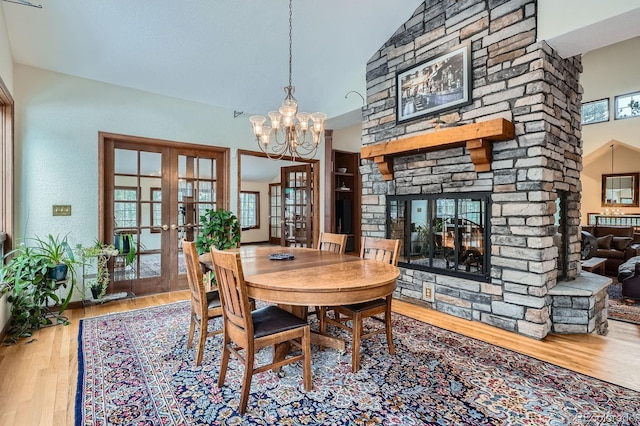
{"label": "leafy green plant behind the table, right of the french doors", "polygon": [[225,209],[207,209],[200,216],[200,233],[196,239],[198,254],[209,252],[211,247],[226,250],[240,246],[240,221],[233,212]]}

